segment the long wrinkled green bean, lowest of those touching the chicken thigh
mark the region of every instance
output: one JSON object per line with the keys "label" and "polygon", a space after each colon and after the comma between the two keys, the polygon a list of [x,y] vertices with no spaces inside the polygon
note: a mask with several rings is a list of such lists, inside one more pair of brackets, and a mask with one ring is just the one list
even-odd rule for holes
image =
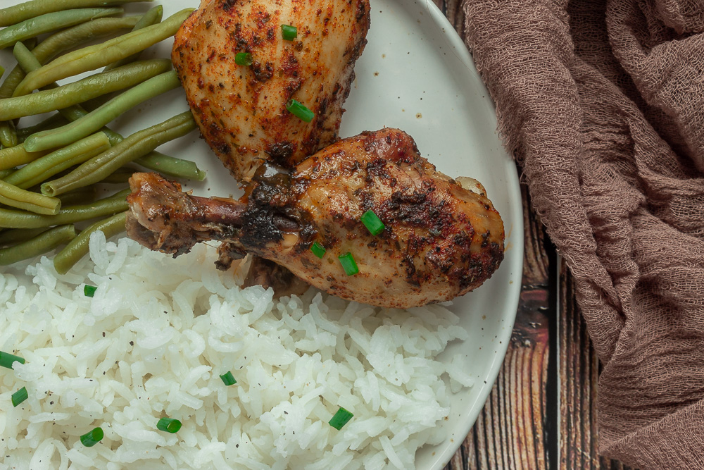
{"label": "long wrinkled green bean, lowest of those touching the chicken thigh", "polygon": [[97,183],[125,163],[134,161],[156,149],[159,145],[182,137],[195,128],[196,123],[191,112],[186,111],[161,124],[135,132],[115,147],[83,163],[63,178],[44,183],[42,194],[56,196],[76,187]]}

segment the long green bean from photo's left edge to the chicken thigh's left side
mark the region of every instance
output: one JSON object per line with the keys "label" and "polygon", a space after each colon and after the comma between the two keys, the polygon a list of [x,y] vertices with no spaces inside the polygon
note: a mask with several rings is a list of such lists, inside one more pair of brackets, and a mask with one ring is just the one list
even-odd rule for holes
{"label": "long green bean from photo's left edge to the chicken thigh's left side", "polygon": [[[15,50],[23,49],[20,44],[22,43],[18,43]],[[23,60],[23,56],[18,56],[18,61]],[[169,59],[139,61],[109,72],[97,73],[55,89],[47,89],[23,97],[0,99],[0,120],[63,109],[101,94],[132,87],[148,78],[164,73],[170,68],[171,61]]]}

